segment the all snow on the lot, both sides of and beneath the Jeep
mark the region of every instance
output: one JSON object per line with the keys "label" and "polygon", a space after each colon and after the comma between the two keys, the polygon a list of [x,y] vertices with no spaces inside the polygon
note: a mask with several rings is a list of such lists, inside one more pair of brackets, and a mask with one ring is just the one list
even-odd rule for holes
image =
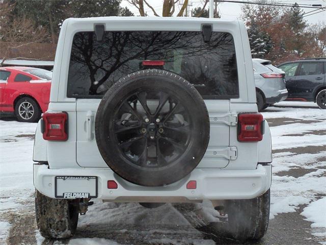
{"label": "all snow on the lot, both sides of and beneath the Jeep", "polygon": [[[282,102],[281,106],[302,102]],[[295,105],[296,106],[296,105]],[[273,150],[273,183],[271,186],[270,218],[279,213],[295,212],[305,205],[303,219],[312,222],[312,234],[326,239],[326,111],[306,104],[309,108],[269,107],[263,115],[270,122]],[[10,227],[5,218],[8,212],[19,212],[25,202],[33,197],[33,135],[36,124],[0,120],[0,243],[5,243]],[[307,147],[319,147],[307,152]],[[320,150],[321,149],[321,150]],[[324,150],[323,150],[324,149]],[[294,173],[294,174],[293,174]],[[295,174],[298,173],[298,174]],[[204,202],[197,205],[205,218],[216,221],[218,213]],[[175,225],[188,226],[188,221],[172,205],[145,209],[139,204],[101,203],[95,200],[87,215],[80,216],[78,229],[92,225],[118,226]],[[155,227],[155,226],[154,226]],[[123,232],[123,231],[121,231]],[[139,231],[142,233],[142,231]],[[148,231],[143,231],[147,232]],[[150,232],[165,233],[169,230],[153,228]],[[178,231],[176,231],[178,232]],[[194,232],[194,231],[189,231]],[[182,231],[182,234],[185,234]],[[43,238],[35,231],[37,244]],[[168,238],[166,238],[168,239]],[[151,241],[171,243],[175,240]],[[211,240],[193,241],[194,244],[213,244]],[[61,244],[56,241],[53,244]],[[69,244],[118,244],[103,238],[75,238]]]}

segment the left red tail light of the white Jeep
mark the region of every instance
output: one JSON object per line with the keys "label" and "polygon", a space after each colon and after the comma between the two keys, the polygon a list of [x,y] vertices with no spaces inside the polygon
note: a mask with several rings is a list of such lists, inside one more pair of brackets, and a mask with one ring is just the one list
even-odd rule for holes
{"label": "left red tail light of the white Jeep", "polygon": [[45,140],[65,141],[68,139],[68,114],[45,112],[41,118],[41,132]]}

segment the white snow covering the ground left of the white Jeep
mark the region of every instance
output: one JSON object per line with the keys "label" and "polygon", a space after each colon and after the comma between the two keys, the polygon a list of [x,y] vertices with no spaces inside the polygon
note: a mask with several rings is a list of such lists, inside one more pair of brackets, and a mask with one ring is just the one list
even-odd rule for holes
{"label": "white snow covering the ground left of the white Jeep", "polygon": [[8,211],[19,212],[30,203],[33,186],[33,137],[37,124],[0,120],[0,244],[11,225]]}

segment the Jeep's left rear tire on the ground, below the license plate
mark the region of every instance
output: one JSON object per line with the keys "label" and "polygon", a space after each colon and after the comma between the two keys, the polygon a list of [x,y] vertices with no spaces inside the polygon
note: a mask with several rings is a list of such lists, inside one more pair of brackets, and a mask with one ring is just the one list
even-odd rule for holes
{"label": "Jeep's left rear tire on the ground, below the license plate", "polygon": [[36,223],[46,238],[69,238],[77,228],[78,201],[53,199],[35,191]]}

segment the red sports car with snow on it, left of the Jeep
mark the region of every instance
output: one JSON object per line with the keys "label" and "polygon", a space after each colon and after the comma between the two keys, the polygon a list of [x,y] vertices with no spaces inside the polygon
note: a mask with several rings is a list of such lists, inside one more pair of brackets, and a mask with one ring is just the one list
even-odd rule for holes
{"label": "red sports car with snow on it, left of the Jeep", "polygon": [[0,113],[19,121],[36,122],[47,110],[52,72],[44,69],[0,67]]}

